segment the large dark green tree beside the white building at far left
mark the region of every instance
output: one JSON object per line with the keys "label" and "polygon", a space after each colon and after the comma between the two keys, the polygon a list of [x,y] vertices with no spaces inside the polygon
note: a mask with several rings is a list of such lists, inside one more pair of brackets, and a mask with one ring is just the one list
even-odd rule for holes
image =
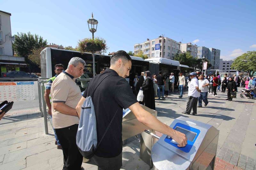
{"label": "large dark green tree beside the white building at far left", "polygon": [[[28,55],[33,54],[34,49],[42,49],[47,45],[47,40],[38,35],[32,35],[30,32],[17,33],[15,36],[15,41],[13,41],[13,49],[19,55],[25,58],[27,64],[30,67],[35,67],[36,63],[28,58]],[[34,60],[35,61],[35,60]]]}

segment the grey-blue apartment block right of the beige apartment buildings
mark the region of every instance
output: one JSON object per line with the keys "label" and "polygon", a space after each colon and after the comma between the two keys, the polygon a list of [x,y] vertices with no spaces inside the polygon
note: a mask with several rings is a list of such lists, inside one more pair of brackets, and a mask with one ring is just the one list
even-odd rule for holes
{"label": "grey-blue apartment block right of the beige apartment buildings", "polygon": [[210,61],[212,66],[207,70],[219,70],[220,67],[220,50],[216,48],[197,47],[197,58],[205,57]]}

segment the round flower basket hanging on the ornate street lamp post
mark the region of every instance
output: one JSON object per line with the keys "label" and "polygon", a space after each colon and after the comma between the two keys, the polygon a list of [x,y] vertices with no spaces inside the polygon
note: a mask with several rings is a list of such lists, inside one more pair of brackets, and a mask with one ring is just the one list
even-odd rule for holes
{"label": "round flower basket hanging on the ornate street lamp post", "polygon": [[83,40],[78,41],[79,51],[84,52],[99,52],[106,53],[108,47],[106,45],[106,40],[103,38],[96,37],[95,39],[85,38]]}

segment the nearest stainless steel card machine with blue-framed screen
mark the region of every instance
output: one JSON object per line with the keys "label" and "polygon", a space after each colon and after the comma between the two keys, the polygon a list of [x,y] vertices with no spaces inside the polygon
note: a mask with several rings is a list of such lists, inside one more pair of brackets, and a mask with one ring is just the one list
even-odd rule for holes
{"label": "nearest stainless steel card machine with blue-framed screen", "polygon": [[163,135],[152,148],[153,169],[214,169],[219,130],[182,116],[170,127],[184,133],[188,144],[178,147],[170,136]]}

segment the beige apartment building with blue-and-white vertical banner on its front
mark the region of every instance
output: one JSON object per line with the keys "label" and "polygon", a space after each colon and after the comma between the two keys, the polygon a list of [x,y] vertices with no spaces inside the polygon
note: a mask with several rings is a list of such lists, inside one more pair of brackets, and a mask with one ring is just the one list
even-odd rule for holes
{"label": "beige apartment building with blue-and-white vertical banner on its front", "polygon": [[176,53],[180,53],[181,42],[174,41],[168,37],[159,36],[156,39],[149,40],[134,44],[134,54],[138,54],[142,51],[148,58],[156,58],[158,55],[155,54],[156,44],[160,44],[160,55],[159,57],[172,59]]}

